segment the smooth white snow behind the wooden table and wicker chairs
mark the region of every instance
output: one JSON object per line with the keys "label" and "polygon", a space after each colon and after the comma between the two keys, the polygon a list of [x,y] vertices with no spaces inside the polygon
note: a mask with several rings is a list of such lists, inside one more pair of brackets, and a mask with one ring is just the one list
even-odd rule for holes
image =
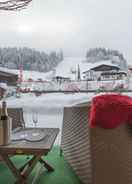
{"label": "smooth white snow behind the wooden table and wicker chairs", "polygon": [[22,107],[26,126],[33,126],[33,112],[38,113],[38,127],[60,128],[56,144],[60,144],[64,106],[89,101],[94,94],[23,94],[20,98],[6,99],[8,107]]}

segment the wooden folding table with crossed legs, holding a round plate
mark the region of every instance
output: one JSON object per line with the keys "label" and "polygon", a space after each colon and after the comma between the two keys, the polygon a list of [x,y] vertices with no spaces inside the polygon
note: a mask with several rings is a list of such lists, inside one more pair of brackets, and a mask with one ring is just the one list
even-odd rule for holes
{"label": "wooden folding table with crossed legs, holding a round plate", "polygon": [[[26,131],[34,131],[33,128],[26,128]],[[59,133],[58,128],[38,128],[37,131],[43,131],[46,135],[45,138],[38,142],[29,142],[29,141],[12,141],[9,145],[0,146],[0,156],[4,163],[9,167],[13,175],[16,177],[18,184],[26,184],[27,178],[37,162],[43,164],[43,166],[48,171],[54,171],[54,168],[50,166],[46,161],[42,159],[42,156],[48,154],[51,150],[55,139]],[[23,131],[23,130],[19,130]],[[21,168],[17,169],[14,163],[11,161],[10,156],[13,155],[33,155],[26,164]]]}

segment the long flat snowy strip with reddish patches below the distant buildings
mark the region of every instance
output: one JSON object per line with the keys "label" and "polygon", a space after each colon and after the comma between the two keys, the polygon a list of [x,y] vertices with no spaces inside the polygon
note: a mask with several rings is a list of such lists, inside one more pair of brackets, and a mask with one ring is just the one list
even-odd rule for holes
{"label": "long flat snowy strip with reddish patches below the distant buildings", "polygon": [[83,90],[116,90],[129,89],[130,85],[125,80],[109,80],[109,81],[70,81],[64,83],[56,83],[49,81],[46,83],[22,83],[21,91],[83,91]]}

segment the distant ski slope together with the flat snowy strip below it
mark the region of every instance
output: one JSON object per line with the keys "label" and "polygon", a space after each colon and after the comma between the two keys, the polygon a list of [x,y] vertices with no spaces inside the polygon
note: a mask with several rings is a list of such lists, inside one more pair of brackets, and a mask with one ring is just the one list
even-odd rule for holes
{"label": "distant ski slope together with the flat snowy strip below it", "polygon": [[[110,64],[110,61],[100,61],[98,63],[87,63],[85,62],[85,58],[70,58],[66,57],[62,62],[56,66],[54,71],[50,71],[47,73],[44,72],[36,72],[36,71],[23,71],[23,80],[27,81],[28,79],[33,79],[33,81],[37,81],[39,79],[42,79],[45,82],[23,82],[21,85],[21,88],[24,89],[30,89],[30,90],[93,90],[98,89],[102,86],[105,86],[106,89],[112,89],[116,86],[119,86],[120,84],[124,84],[124,88],[128,88],[127,78],[123,80],[109,80],[109,81],[75,81],[77,78],[75,71],[77,71],[78,65],[80,67],[81,76],[83,76],[83,72],[89,70],[91,67],[95,67],[95,65],[108,63]],[[112,65],[112,64],[111,64]],[[1,68],[2,71],[7,71],[10,73],[18,74],[20,73],[19,70],[11,70],[7,68]],[[74,72],[73,72],[74,71]],[[73,73],[72,73],[73,72]],[[56,83],[51,81],[51,79],[54,76],[63,76],[63,77],[70,77],[72,82],[64,82],[64,83]],[[132,89],[132,86],[129,86],[129,89]]]}

